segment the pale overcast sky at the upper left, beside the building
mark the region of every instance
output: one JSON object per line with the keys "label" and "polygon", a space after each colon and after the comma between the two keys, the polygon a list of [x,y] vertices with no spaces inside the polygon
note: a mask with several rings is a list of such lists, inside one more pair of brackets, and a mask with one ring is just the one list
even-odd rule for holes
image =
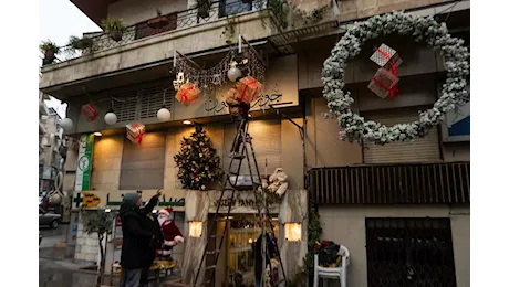
{"label": "pale overcast sky at the upper left, beside the building", "polygon": [[[96,31],[101,29],[70,0],[35,1],[35,43],[51,40],[58,45],[66,45],[72,35],[81,36]],[[39,64],[42,65],[42,60]],[[65,117],[65,104],[52,97],[46,105],[53,107],[62,118]]]}

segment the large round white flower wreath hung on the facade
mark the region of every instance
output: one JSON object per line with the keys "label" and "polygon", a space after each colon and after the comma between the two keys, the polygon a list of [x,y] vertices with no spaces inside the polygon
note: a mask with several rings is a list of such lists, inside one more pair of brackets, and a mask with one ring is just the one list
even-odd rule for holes
{"label": "large round white flower wreath hung on the facade", "polygon": [[[424,40],[428,46],[439,51],[444,57],[447,79],[443,85],[442,96],[433,108],[419,113],[418,120],[387,127],[372,120],[365,121],[363,117],[352,113],[350,107],[354,99],[350,92],[343,91],[344,72],[346,60],[359,55],[366,40],[396,32],[412,35],[416,42]],[[342,128],[341,139],[385,145],[392,141],[411,141],[426,136],[429,129],[444,120],[448,111],[469,102],[466,91],[469,53],[463,43],[461,39],[453,38],[448,33],[445,23],[438,23],[433,17],[422,18],[393,12],[355,23],[332,49],[332,54],[323,63],[322,71],[323,97],[328,100],[329,116],[336,117]]]}

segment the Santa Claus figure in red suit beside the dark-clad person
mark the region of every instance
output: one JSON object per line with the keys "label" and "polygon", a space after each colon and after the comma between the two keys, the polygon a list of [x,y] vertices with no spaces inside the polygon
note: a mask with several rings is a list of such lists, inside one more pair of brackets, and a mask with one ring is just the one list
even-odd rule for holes
{"label": "Santa Claus figure in red suit beside the dark-clad person", "polygon": [[160,231],[163,233],[163,246],[157,251],[159,256],[172,256],[172,249],[180,243],[184,243],[183,234],[177,227],[175,222],[169,217],[172,209],[164,209],[159,211],[157,220],[159,222]]}

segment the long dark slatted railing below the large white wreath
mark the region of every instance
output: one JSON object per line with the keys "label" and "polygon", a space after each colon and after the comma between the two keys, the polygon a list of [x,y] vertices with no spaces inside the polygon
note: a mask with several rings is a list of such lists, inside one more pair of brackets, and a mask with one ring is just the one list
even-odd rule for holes
{"label": "long dark slatted railing below the large white wreath", "polygon": [[469,162],[315,168],[309,189],[319,204],[470,203]]}

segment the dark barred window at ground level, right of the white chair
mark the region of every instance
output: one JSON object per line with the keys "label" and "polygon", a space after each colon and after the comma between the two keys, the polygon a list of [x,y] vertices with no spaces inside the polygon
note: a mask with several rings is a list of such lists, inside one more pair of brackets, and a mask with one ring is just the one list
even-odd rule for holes
{"label": "dark barred window at ground level, right of the white chair", "polygon": [[368,287],[456,287],[449,219],[366,219]]}

